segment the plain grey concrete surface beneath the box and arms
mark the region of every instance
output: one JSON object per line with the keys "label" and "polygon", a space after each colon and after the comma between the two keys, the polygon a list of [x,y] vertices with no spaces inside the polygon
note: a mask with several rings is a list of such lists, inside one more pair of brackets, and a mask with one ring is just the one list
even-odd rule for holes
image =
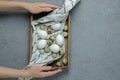
{"label": "plain grey concrete surface beneath the box and arms", "polygon": [[[0,66],[27,65],[29,26],[27,12],[0,13]],[[120,0],[81,0],[71,12],[70,70],[34,80],[120,80]]]}

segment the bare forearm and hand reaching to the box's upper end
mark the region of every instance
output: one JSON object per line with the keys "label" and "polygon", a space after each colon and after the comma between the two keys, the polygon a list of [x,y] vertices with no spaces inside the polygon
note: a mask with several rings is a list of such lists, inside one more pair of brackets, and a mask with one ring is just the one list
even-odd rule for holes
{"label": "bare forearm and hand reaching to the box's upper end", "polygon": [[60,8],[56,5],[41,3],[41,2],[16,2],[0,0],[0,12],[10,10],[27,10],[30,13],[37,14],[40,12],[49,12],[56,8]]}

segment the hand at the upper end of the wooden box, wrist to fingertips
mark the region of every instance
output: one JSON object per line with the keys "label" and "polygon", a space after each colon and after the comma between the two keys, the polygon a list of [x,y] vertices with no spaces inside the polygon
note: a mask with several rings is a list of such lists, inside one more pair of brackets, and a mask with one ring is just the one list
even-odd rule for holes
{"label": "hand at the upper end of the wooden box, wrist to fingertips", "polygon": [[37,13],[41,13],[41,12],[50,12],[54,9],[60,8],[56,5],[41,3],[41,2],[35,2],[35,3],[26,3],[25,2],[22,4],[22,7],[33,14],[37,14]]}

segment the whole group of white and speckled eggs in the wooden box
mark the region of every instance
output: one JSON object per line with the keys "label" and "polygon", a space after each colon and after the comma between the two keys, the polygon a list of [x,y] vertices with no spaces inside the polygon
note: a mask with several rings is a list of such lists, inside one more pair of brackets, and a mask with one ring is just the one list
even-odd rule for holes
{"label": "whole group of white and speckled eggs in the wooden box", "polygon": [[[66,38],[67,26],[63,28],[63,32],[58,35],[51,35],[55,31],[61,29],[61,24],[57,23],[55,25],[46,27],[44,24],[41,24],[39,30],[37,31],[40,39],[37,41],[37,48],[40,50],[40,53],[50,53],[53,58],[56,58],[58,53],[59,55],[64,55],[65,51],[62,49],[64,45],[64,37]],[[49,36],[50,35],[50,36]],[[67,59],[62,60],[63,64],[67,64]],[[61,62],[57,62],[56,65],[60,66]]]}

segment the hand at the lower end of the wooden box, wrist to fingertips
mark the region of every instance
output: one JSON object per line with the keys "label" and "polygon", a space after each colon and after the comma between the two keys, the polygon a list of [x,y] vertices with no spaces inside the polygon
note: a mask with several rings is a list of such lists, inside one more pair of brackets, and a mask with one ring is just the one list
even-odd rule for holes
{"label": "hand at the lower end of the wooden box, wrist to fingertips", "polygon": [[[39,66],[34,66],[34,67],[30,67],[24,70],[25,73],[25,78],[44,78],[44,77],[48,77],[48,76],[53,76],[59,72],[61,72],[61,69],[57,69],[54,71],[50,71],[52,69],[52,67],[50,66],[43,66],[43,67],[39,67]],[[48,72],[45,72],[45,70]]]}

